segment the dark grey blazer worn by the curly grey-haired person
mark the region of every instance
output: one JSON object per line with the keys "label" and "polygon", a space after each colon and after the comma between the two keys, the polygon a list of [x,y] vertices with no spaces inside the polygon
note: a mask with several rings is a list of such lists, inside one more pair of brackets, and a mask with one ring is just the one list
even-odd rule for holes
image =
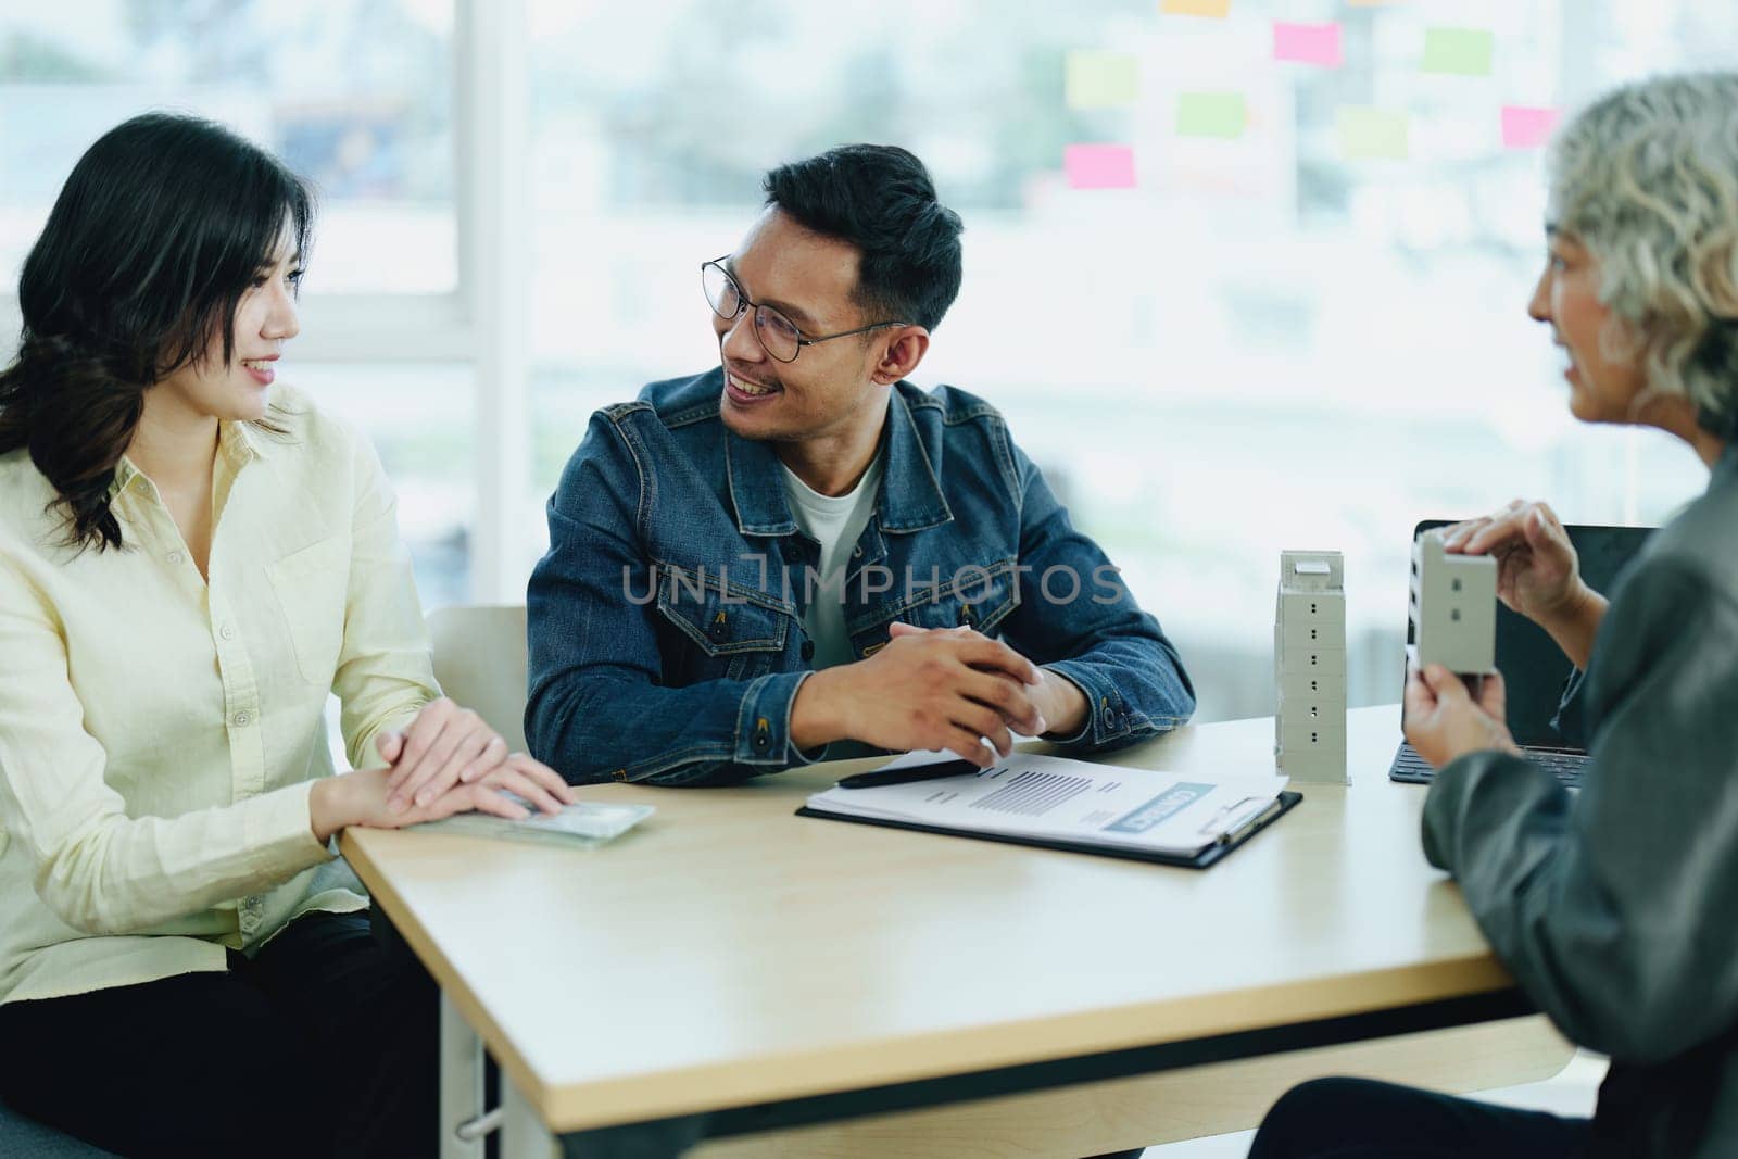
{"label": "dark grey blazer worn by the curly grey-haired person", "polygon": [[1595,1156],[1738,1156],[1738,445],[1620,580],[1580,798],[1476,752],[1423,848],[1521,989],[1611,1055]]}

